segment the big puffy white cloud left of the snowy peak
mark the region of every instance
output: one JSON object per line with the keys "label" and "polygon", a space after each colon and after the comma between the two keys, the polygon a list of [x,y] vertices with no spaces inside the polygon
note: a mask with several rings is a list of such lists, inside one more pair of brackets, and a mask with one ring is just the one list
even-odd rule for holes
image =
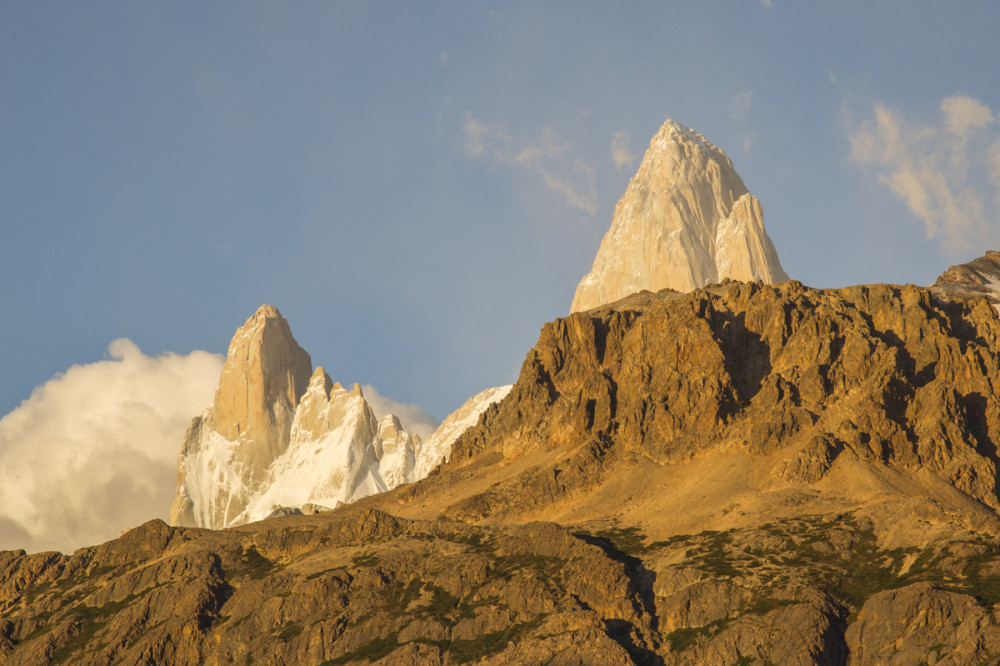
{"label": "big puffy white cloud left of the snowy peak", "polygon": [[167,518],[184,432],[223,358],[150,357],[125,338],[108,353],[0,419],[0,549],[69,552]]}

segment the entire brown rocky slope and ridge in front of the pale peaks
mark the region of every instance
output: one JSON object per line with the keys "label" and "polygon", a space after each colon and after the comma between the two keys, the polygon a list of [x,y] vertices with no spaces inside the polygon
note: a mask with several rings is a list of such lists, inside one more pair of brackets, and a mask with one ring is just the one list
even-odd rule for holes
{"label": "entire brown rocky slope and ridge in front of the pale peaks", "polygon": [[0,662],[995,664],[998,337],[912,286],[576,313],[420,482],[0,553]]}

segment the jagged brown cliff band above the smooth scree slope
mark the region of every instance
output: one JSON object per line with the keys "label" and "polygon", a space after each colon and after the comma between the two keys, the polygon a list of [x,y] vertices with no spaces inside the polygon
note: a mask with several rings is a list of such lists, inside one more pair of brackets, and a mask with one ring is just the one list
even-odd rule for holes
{"label": "jagged brown cliff band above the smooth scree slope", "polygon": [[998,334],[985,302],[939,304],[913,286],[729,283],[576,313],[543,327],[510,395],[451,462],[563,459],[448,515],[536,510],[601,483],[621,458],[671,464],[727,448],[778,454],[772,475],[806,482],[846,451],[997,508]]}

